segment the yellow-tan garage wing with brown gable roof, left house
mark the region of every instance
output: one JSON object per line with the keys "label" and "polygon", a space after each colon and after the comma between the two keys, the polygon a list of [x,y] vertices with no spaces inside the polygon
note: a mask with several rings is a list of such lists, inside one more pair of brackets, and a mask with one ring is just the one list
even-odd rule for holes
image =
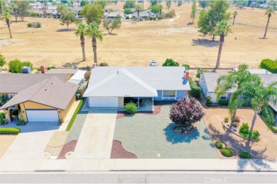
{"label": "yellow-tan garage wing with brown gable roof, left house", "polygon": [[[47,76],[47,74],[36,76]],[[77,84],[52,75],[19,91],[16,96],[1,106],[0,110],[5,110],[6,117],[9,117],[9,108],[16,105],[18,110],[21,110],[20,114],[24,122],[63,122],[75,101],[78,88]]]}

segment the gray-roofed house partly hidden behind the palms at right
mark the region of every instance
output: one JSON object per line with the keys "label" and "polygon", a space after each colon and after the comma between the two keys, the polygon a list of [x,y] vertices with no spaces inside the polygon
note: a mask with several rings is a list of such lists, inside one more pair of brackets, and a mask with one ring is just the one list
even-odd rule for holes
{"label": "gray-roofed house partly hidden behind the palms at right", "polygon": [[[249,69],[251,74],[259,74],[261,76],[261,81],[264,83],[264,86],[271,84],[273,81],[277,81],[277,74],[271,74],[270,72],[266,72],[264,69]],[[222,76],[226,73],[202,73],[200,74],[199,84],[202,88],[202,91],[207,98],[208,96],[212,97],[212,102],[216,103],[217,94],[214,93],[214,90],[217,86],[217,79],[219,76]],[[227,91],[224,95],[222,95],[219,99],[220,100],[229,100],[232,96],[232,93],[236,90],[236,88],[232,88],[232,90]],[[269,103],[271,108],[277,112],[277,105],[273,105],[273,103]]]}

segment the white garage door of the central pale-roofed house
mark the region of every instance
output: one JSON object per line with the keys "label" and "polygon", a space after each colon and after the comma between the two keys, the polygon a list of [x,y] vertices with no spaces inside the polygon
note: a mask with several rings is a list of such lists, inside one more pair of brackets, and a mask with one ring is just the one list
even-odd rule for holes
{"label": "white garage door of the central pale-roofed house", "polygon": [[118,97],[89,97],[89,107],[115,108],[119,106]]}

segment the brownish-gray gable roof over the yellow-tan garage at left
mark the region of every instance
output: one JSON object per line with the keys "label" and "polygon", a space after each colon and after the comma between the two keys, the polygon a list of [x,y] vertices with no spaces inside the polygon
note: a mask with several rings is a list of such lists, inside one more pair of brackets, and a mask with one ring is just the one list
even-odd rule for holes
{"label": "brownish-gray gable roof over the yellow-tan garage at left", "polygon": [[57,76],[53,76],[50,79],[44,79],[19,92],[5,103],[1,109],[9,108],[26,101],[32,101],[65,110],[72,97],[75,96],[78,87],[76,84],[61,81]]}

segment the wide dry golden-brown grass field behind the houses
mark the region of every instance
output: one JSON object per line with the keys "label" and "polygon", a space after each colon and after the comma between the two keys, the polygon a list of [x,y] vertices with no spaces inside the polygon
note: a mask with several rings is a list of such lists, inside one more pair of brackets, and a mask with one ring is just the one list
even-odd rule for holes
{"label": "wide dry golden-brown grass field behind the houses", "polygon": [[[161,65],[166,58],[173,58],[180,64],[188,63],[193,67],[214,67],[218,42],[212,43],[209,36],[198,33],[196,24],[187,25],[191,22],[190,6],[191,4],[186,3],[178,7],[173,3],[172,8],[180,16],[175,21],[124,21],[119,30],[114,30],[116,35],[107,35],[107,30],[102,28],[104,39],[98,43],[99,62],[121,66],[148,66],[150,59],[156,59],[158,65]],[[109,7],[121,8],[122,4]],[[238,11],[239,16],[233,26],[233,34],[228,35],[224,42],[221,67],[236,67],[241,63],[258,67],[261,59],[277,58],[276,14],[271,17],[268,39],[264,40],[261,38],[267,21],[265,10],[240,10],[232,6],[229,11]],[[34,21],[40,21],[45,28],[26,28],[28,22]],[[75,28],[75,25],[70,25],[70,28]],[[6,24],[1,21],[0,51],[7,61],[14,58],[29,60],[35,67],[41,64],[56,67],[71,67],[76,64],[78,67],[85,67],[86,62],[81,62],[80,39],[72,31],[57,32],[60,29],[65,29],[65,26],[53,18],[26,18],[25,22],[11,24],[13,38],[9,39]],[[198,39],[208,41],[199,42]],[[86,54],[90,65],[93,55],[89,39],[86,40]]]}

